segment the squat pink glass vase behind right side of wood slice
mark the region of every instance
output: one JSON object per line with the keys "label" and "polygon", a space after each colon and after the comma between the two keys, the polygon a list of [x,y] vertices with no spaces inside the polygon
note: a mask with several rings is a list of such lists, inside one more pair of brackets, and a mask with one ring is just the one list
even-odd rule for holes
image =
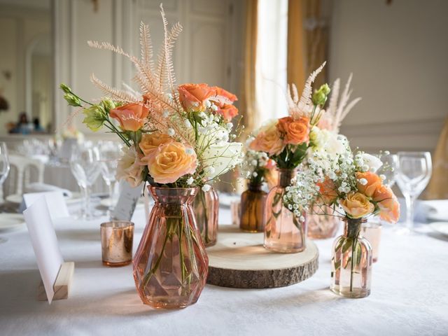
{"label": "squat pink glass vase behind right side of wood slice", "polygon": [[335,216],[335,210],[326,205],[317,205],[311,208],[307,216],[308,237],[311,239],[327,239],[335,237],[339,228],[340,218]]}

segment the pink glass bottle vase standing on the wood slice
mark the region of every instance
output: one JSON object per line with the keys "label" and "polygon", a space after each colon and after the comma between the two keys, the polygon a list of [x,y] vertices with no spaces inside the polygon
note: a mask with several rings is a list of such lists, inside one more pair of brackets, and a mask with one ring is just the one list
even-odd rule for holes
{"label": "pink glass bottle vase standing on the wood slice", "polygon": [[[267,194],[265,207],[265,248],[280,253],[302,252],[306,248],[306,221],[294,216],[283,205],[283,195],[290,186],[297,170],[278,169],[279,182]],[[302,214],[304,217],[305,215]]]}

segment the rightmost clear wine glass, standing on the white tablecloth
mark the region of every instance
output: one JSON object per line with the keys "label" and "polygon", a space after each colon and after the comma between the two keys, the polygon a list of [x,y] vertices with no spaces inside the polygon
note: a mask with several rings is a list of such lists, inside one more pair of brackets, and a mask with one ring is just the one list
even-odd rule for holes
{"label": "rightmost clear wine glass, standing on the white tablecloth", "polygon": [[406,226],[402,233],[414,230],[414,203],[428,185],[432,163],[429,152],[398,152],[397,183],[406,200]]}

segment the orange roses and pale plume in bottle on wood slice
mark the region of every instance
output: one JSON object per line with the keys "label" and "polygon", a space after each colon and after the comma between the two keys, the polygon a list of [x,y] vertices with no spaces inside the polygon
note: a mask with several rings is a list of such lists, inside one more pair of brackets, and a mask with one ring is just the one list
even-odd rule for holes
{"label": "orange roses and pale plume in bottle on wood slice", "polygon": [[311,73],[299,99],[297,87],[288,87],[288,114],[278,120],[269,120],[255,134],[249,148],[265,152],[280,169],[296,168],[307,154],[310,146],[310,130],[318,124],[325,112],[323,106],[330,93],[327,84],[312,93],[311,84],[325,66],[322,64]]}

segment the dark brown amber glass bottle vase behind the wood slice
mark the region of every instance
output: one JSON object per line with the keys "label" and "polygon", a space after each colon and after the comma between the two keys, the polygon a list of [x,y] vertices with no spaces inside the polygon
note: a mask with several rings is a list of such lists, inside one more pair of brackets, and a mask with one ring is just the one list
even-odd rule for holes
{"label": "dark brown amber glass bottle vase behind the wood slice", "polygon": [[241,218],[239,228],[248,232],[265,231],[265,202],[267,193],[261,184],[249,183],[248,190],[241,194]]}

